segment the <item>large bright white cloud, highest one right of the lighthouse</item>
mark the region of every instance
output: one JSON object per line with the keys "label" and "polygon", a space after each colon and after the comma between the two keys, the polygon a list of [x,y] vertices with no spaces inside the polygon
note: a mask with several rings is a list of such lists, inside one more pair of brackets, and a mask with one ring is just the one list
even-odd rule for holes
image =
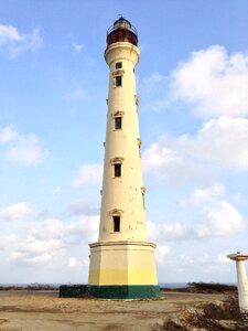
{"label": "large bright white cloud, highest one right of the lighthouse", "polygon": [[248,115],[248,52],[220,45],[192,52],[168,76],[152,73],[139,84],[143,109],[160,111],[183,102],[204,118]]}

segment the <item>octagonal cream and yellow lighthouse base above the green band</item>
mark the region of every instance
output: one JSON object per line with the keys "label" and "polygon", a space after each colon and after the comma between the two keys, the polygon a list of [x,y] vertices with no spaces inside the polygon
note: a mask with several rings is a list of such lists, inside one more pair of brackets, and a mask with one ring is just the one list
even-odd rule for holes
{"label": "octagonal cream and yellow lighthouse base above the green band", "polygon": [[154,244],[125,241],[89,246],[89,286],[158,286]]}

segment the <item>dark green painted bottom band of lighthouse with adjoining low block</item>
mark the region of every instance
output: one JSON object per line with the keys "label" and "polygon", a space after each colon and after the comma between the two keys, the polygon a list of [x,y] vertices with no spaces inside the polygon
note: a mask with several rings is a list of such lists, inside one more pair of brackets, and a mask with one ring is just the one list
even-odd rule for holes
{"label": "dark green painted bottom band of lighthouse with adjoining low block", "polygon": [[149,299],[159,298],[158,285],[62,285],[60,298]]}

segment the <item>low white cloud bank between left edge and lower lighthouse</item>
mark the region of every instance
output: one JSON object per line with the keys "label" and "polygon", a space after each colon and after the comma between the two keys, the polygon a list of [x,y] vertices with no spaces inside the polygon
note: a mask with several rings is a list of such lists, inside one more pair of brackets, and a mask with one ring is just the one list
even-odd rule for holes
{"label": "low white cloud bank between left edge and lower lighthouse", "polygon": [[2,207],[0,252],[4,252],[3,258],[20,267],[46,265],[48,269],[60,269],[73,256],[78,264],[72,259],[71,267],[76,264],[83,267],[88,259],[87,244],[97,241],[99,216],[67,217],[36,211],[30,202]]}

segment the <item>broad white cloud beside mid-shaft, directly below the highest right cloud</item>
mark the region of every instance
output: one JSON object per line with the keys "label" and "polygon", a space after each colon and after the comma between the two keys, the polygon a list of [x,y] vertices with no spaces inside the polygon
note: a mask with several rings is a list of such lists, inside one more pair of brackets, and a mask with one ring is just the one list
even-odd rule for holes
{"label": "broad white cloud beside mid-shaft, directly below the highest right cloud", "polygon": [[248,171],[248,119],[212,119],[196,136],[162,136],[143,152],[143,170],[174,184],[207,184],[219,170]]}

